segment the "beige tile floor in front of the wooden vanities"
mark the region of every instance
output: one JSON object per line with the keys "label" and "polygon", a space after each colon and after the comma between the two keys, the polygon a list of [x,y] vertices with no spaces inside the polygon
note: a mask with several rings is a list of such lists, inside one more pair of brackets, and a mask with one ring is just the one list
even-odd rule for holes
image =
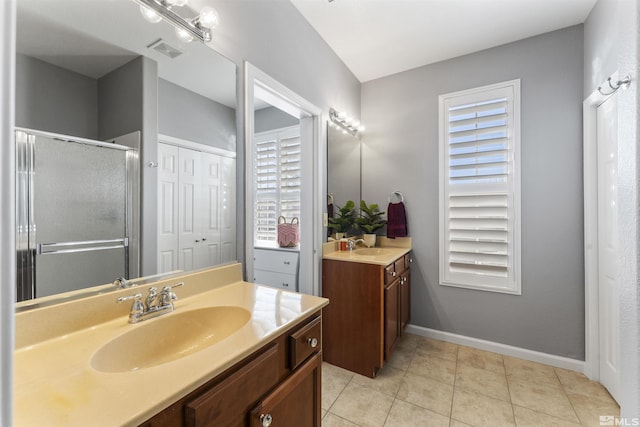
{"label": "beige tile floor in front of the wooden vanities", "polygon": [[599,427],[620,412],[577,372],[412,334],[375,379],[322,369],[323,427]]}

